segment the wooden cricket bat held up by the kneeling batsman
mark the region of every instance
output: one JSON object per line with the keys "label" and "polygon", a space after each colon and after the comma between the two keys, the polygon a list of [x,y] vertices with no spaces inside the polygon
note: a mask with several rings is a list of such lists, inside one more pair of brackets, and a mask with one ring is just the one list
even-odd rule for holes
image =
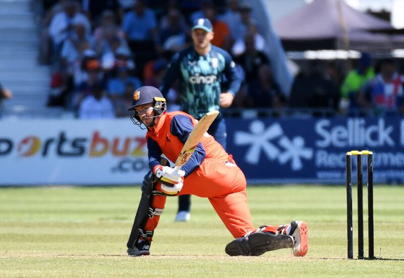
{"label": "wooden cricket bat held up by the kneeling batsman", "polygon": [[196,146],[198,145],[201,138],[208,131],[209,126],[211,126],[212,122],[219,115],[219,111],[214,110],[206,113],[193,128],[191,133],[186,140],[184,147],[182,148],[177,160],[175,161],[175,171],[179,171],[181,166],[188,162],[189,158],[195,151]]}

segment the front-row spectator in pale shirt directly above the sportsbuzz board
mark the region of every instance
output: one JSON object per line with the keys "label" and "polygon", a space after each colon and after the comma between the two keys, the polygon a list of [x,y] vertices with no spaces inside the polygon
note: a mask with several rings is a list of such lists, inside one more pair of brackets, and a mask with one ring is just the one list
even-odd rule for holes
{"label": "front-row spectator in pale shirt directly above the sportsbuzz board", "polygon": [[115,118],[112,101],[105,96],[103,86],[99,83],[90,87],[90,95],[86,96],[80,104],[80,119]]}

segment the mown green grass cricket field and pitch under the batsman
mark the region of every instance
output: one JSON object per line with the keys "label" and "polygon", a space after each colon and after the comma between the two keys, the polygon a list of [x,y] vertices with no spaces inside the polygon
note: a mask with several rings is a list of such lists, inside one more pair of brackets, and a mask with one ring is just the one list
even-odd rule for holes
{"label": "mown green grass cricket field and pitch under the batsman", "polygon": [[[177,198],[168,198],[151,255],[129,257],[126,242],[139,187],[4,188],[0,277],[402,276],[404,187],[375,187],[374,192],[375,255],[382,259],[348,260],[343,187],[248,188],[255,225],[308,222],[309,253],[304,258],[286,249],[260,257],[227,256],[224,247],[232,240],[230,233],[209,201],[197,197],[192,197],[187,223],[174,222]],[[356,224],[354,230],[356,235]],[[366,235],[365,229],[365,253]],[[356,238],[354,247],[357,256]]]}

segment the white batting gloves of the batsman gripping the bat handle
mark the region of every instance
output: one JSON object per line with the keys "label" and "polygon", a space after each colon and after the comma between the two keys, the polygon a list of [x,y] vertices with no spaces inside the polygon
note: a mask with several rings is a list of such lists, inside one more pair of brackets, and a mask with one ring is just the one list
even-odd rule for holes
{"label": "white batting gloves of the batsman gripping the bat handle", "polygon": [[161,182],[161,189],[167,195],[177,195],[184,185],[183,170],[174,171],[168,166],[156,165],[153,172]]}

